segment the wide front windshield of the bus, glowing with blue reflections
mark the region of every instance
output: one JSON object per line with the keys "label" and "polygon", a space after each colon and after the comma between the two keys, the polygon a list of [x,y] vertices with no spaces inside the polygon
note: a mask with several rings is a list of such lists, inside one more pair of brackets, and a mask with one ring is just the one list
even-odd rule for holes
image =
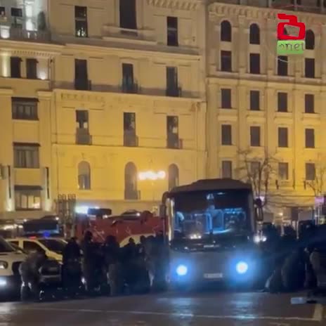
{"label": "wide front windshield of the bus, glowing with blue reflections", "polygon": [[176,239],[244,234],[251,230],[248,190],[178,193],[172,228]]}

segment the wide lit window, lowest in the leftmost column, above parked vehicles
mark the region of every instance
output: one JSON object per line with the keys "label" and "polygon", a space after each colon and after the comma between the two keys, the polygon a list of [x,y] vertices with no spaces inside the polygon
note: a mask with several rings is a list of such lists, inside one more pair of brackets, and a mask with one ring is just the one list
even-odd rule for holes
{"label": "wide lit window, lowest in the leftmost column, above parked vehicles", "polygon": [[41,190],[15,186],[15,209],[18,211],[41,209]]}

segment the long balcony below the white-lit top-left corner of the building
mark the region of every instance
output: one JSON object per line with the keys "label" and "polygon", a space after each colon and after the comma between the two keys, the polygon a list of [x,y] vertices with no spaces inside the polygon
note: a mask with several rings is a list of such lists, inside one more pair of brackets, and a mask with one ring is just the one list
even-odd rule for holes
{"label": "long balcony below the white-lit top-left corner of the building", "polygon": [[49,31],[28,31],[20,27],[0,25],[0,39],[47,43],[51,41],[51,34]]}

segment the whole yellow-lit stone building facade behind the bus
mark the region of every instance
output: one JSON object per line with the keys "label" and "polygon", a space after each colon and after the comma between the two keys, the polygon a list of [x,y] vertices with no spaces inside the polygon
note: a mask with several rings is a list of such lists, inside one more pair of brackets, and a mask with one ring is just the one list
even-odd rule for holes
{"label": "whole yellow-lit stone building facade behind the bus", "polygon": [[[268,209],[313,205],[325,7],[281,2],[0,1],[0,216],[43,216],[58,195],[150,209],[173,185],[246,178],[266,157]],[[284,10],[313,32],[302,58],[275,55]],[[148,170],[167,177],[138,180]]]}

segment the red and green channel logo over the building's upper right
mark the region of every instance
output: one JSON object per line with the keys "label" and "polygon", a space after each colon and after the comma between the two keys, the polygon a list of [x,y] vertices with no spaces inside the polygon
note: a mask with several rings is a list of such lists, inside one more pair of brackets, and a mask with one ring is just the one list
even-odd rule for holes
{"label": "red and green channel logo over the building's upper right", "polygon": [[[278,19],[287,20],[278,23],[278,45],[276,48],[278,56],[303,54],[306,49],[306,25],[304,22],[298,22],[296,15],[287,15],[286,13],[278,13]],[[299,29],[297,36],[289,35],[288,27]]]}

